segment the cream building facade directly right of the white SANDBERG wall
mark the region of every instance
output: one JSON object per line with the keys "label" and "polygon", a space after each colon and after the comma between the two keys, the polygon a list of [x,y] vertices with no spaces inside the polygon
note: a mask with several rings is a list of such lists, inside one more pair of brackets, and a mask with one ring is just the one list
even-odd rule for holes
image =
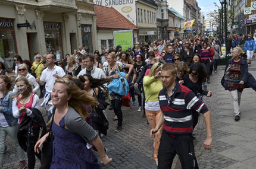
{"label": "cream building facade directly right of the white SANDBERG wall", "polygon": [[153,0],[136,1],[139,42],[153,42],[157,39],[157,4]]}

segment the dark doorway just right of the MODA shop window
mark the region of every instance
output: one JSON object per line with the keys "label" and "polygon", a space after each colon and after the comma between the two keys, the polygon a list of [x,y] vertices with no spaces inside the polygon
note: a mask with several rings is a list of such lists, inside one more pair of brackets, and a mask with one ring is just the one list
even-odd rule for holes
{"label": "dark doorway just right of the MODA shop window", "polygon": [[[29,47],[29,60],[34,62],[35,53],[38,51],[37,33],[27,33],[27,47]],[[40,54],[40,53],[38,53]]]}

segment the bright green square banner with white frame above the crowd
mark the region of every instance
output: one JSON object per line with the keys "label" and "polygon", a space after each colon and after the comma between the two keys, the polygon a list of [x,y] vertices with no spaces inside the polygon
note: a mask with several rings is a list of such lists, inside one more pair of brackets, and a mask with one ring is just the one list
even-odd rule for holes
{"label": "bright green square banner with white frame above the crowd", "polygon": [[113,31],[114,46],[120,45],[122,51],[126,51],[128,47],[133,47],[133,30]]}

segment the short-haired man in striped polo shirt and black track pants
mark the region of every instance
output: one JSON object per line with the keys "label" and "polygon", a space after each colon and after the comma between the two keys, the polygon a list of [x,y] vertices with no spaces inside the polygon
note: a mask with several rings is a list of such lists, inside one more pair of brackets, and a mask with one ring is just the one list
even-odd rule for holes
{"label": "short-haired man in striped polo shirt and black track pants", "polygon": [[176,84],[177,68],[166,63],[161,70],[164,88],[159,93],[162,113],[151,137],[163,125],[161,143],[158,149],[158,168],[171,168],[173,158],[179,155],[182,168],[198,168],[192,139],[192,110],[204,114],[207,138],[205,149],[211,149],[211,113],[189,88]]}

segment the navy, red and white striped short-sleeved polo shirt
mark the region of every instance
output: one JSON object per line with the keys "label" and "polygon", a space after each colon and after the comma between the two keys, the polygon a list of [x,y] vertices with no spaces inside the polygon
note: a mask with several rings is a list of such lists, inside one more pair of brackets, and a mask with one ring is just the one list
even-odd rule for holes
{"label": "navy, red and white striped short-sleeved polo shirt", "polygon": [[207,106],[196,97],[193,91],[178,83],[170,98],[166,88],[160,91],[158,98],[164,113],[163,128],[168,133],[192,133],[192,110],[202,114],[208,111]]}

